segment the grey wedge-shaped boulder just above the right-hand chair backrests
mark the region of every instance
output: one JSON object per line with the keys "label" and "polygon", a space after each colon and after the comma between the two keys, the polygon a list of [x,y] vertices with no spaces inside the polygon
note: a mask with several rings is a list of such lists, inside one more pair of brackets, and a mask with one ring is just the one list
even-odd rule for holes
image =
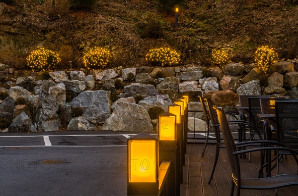
{"label": "grey wedge-shaped boulder just above the right-hand chair backrests", "polygon": [[260,80],[252,80],[241,85],[236,90],[238,95],[261,95]]}

